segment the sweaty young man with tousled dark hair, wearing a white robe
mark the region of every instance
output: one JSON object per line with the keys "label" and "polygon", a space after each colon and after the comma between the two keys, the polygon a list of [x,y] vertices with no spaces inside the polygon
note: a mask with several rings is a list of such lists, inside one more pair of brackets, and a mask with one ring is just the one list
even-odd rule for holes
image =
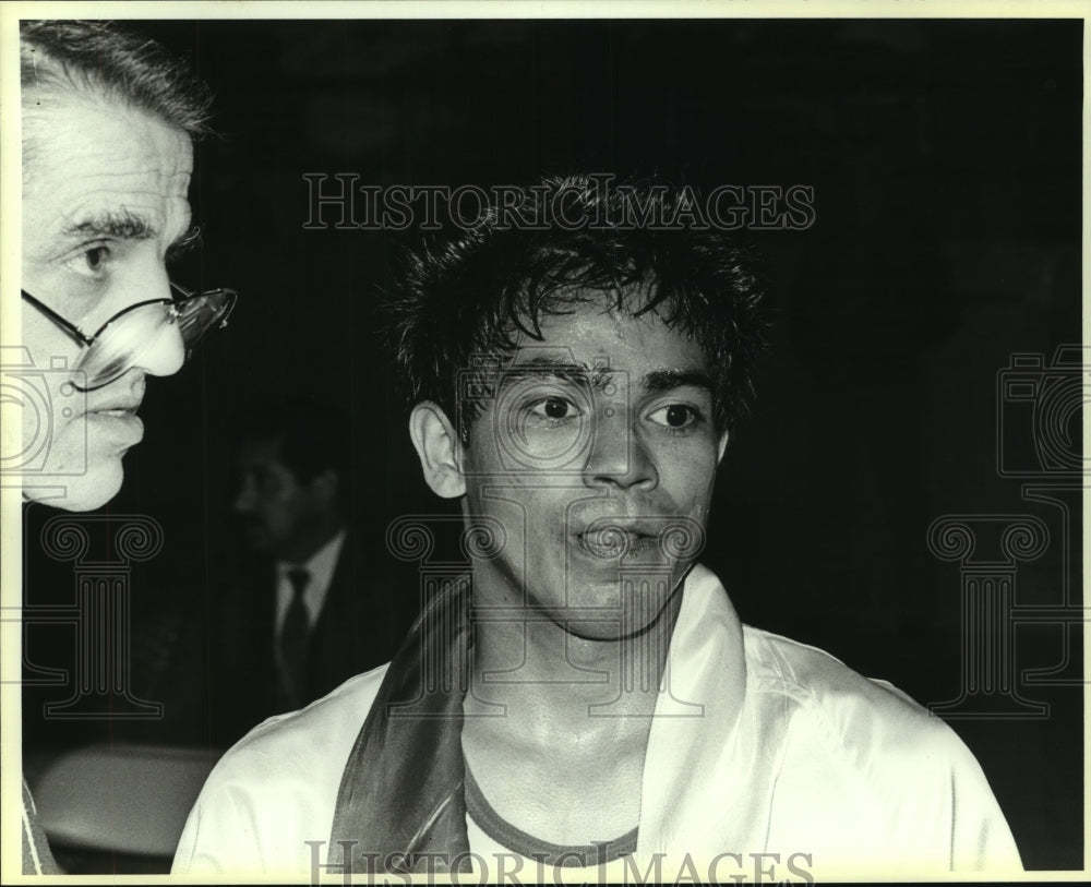
{"label": "sweaty young man with tousled dark hair, wearing a white robe", "polygon": [[684,192],[599,185],[528,189],[544,230],[496,212],[411,264],[392,305],[409,431],[469,568],[388,668],[221,760],[176,872],[1018,867],[943,722],[741,625],[696,562],[760,292],[730,238],[679,221]]}

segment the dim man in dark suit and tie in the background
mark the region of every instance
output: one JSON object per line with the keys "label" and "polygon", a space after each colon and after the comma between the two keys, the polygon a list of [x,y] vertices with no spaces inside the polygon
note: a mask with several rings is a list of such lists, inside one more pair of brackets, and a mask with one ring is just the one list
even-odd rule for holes
{"label": "dim man in dark suit and tie in the background", "polygon": [[241,424],[235,511],[248,551],[232,558],[212,622],[209,726],[225,746],[388,661],[417,604],[391,584],[382,530],[351,526],[347,417],[299,398],[255,408]]}

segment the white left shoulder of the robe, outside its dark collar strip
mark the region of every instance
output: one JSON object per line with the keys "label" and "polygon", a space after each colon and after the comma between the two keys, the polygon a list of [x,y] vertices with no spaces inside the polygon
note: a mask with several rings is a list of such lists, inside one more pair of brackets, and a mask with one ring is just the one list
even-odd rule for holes
{"label": "white left shoulder of the robe, outside its dark collar strip", "polygon": [[298,874],[305,842],[325,859],[345,762],[386,666],[251,730],[208,776],[175,855],[176,874]]}

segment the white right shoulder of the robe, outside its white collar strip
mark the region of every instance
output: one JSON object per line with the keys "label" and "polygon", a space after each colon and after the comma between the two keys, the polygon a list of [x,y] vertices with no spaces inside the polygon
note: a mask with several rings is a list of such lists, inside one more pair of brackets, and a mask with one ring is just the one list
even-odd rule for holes
{"label": "white right shoulder of the robe, outside its white collar strip", "polygon": [[815,647],[743,637],[752,739],[776,774],[770,836],[861,865],[1019,870],[985,775],[943,720]]}

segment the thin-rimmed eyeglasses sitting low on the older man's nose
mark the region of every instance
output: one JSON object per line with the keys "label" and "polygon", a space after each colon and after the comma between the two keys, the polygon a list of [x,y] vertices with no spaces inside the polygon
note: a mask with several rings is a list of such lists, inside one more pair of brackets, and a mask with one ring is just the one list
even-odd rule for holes
{"label": "thin-rimmed eyeglasses sitting low on the older man's nose", "polygon": [[26,301],[86,348],[73,370],[87,376],[86,383],[76,387],[92,391],[109,385],[129,372],[157,347],[164,331],[176,323],[189,359],[193,346],[208,329],[217,324],[220,327],[227,325],[227,319],[238,298],[231,289],[190,292],[173,283],[170,288],[176,293],[173,299],[149,299],[131,304],[110,317],[92,336],[39,302],[25,289],[21,292]]}

